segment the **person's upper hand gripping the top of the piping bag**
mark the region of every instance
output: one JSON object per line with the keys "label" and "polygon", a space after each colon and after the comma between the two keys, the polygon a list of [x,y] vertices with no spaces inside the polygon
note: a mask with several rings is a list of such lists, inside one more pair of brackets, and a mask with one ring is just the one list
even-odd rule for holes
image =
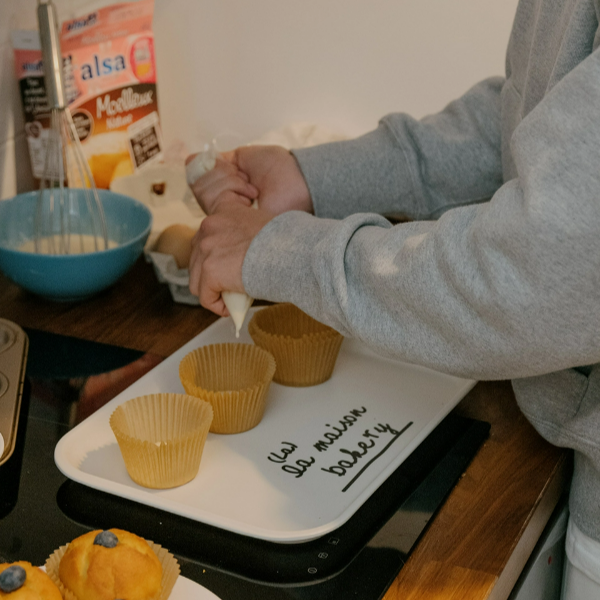
{"label": "person's upper hand gripping the top of the piping bag", "polygon": [[[186,164],[194,156],[189,156]],[[300,167],[281,146],[242,146],[225,152],[191,188],[207,215],[222,202],[249,206],[255,199],[261,209],[274,215],[288,210],[313,210]]]}

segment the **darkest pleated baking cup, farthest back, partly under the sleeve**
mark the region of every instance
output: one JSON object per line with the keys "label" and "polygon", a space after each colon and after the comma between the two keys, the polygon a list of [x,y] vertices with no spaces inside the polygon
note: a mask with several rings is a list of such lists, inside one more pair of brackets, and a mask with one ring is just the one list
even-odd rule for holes
{"label": "darkest pleated baking cup, farthest back, partly under the sleeve", "polygon": [[254,343],[275,357],[273,381],[306,387],[327,381],[343,336],[293,304],[275,304],[254,313],[248,323]]}

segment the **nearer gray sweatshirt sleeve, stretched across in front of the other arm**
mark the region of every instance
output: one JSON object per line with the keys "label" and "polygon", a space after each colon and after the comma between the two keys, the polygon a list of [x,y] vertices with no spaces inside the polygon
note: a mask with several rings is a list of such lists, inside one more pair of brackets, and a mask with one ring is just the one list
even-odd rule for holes
{"label": "nearer gray sweatshirt sleeve, stretched across in front of the other arm", "polygon": [[[279,215],[248,250],[246,290],[293,302],[375,351],[459,376],[528,377],[600,361],[598,52],[521,121],[511,153],[517,176],[489,202],[436,221]],[[473,194],[472,178],[465,183]]]}

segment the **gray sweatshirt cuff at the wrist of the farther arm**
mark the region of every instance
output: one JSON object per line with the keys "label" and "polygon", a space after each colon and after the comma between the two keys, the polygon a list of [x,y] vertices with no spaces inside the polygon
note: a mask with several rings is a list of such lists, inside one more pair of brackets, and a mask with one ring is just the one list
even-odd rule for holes
{"label": "gray sweatshirt cuff at the wrist of the farther arm", "polygon": [[353,140],[292,150],[315,215],[343,219],[358,212],[410,214],[415,207],[409,161],[382,121]]}

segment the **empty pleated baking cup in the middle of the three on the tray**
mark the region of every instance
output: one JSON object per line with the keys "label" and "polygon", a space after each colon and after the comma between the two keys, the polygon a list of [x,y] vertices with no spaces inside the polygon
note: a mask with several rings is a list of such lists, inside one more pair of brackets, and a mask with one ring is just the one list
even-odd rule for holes
{"label": "empty pleated baking cup in the middle of the three on the tray", "polygon": [[273,356],[252,344],[202,346],[179,364],[185,391],[213,407],[213,433],[241,433],[256,427],[274,373]]}

